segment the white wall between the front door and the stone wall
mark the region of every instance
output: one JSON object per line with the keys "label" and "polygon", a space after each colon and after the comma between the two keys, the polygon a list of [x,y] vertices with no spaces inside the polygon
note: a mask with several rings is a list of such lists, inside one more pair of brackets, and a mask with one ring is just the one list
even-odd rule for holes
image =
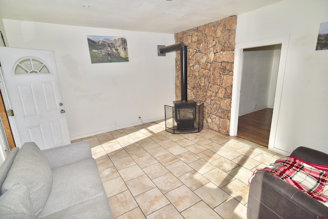
{"label": "white wall between the front door and the stone wall", "polygon": [[[53,50],[71,140],[164,118],[174,101],[174,34],[4,19],[9,46]],[[91,64],[87,35],[127,37],[129,62]]]}

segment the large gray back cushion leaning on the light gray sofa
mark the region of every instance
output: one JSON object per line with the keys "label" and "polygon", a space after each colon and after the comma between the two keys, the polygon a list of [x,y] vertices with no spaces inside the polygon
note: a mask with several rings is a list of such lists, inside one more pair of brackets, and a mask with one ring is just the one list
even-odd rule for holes
{"label": "large gray back cushion leaning on the light gray sofa", "polygon": [[52,171],[47,157],[35,143],[25,143],[20,148],[2,186],[2,192],[16,184],[25,184],[29,188],[34,212],[38,214],[51,191]]}

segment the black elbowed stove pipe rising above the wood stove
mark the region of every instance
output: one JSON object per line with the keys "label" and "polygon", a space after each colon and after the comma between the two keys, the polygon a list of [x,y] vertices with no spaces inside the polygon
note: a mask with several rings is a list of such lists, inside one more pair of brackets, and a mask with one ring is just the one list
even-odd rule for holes
{"label": "black elbowed stove pipe rising above the wood stove", "polygon": [[181,42],[170,46],[159,48],[159,53],[164,54],[180,49],[180,70],[181,70],[181,102],[187,102],[187,46]]}

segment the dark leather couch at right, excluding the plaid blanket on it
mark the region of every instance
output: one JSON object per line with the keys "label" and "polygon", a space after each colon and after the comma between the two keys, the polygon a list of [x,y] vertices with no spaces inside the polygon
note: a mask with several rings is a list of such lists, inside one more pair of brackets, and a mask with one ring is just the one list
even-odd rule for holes
{"label": "dark leather couch at right, excluding the plaid blanket on it", "polygon": [[[328,166],[328,154],[298,147],[291,156]],[[328,218],[328,208],[265,171],[257,171],[250,185],[247,218]]]}

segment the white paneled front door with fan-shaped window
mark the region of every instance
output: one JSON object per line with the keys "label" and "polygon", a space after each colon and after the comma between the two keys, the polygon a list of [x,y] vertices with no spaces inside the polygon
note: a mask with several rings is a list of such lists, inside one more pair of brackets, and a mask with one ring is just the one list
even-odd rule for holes
{"label": "white paneled front door with fan-shaped window", "polygon": [[53,51],[0,47],[0,63],[0,89],[6,109],[14,112],[9,122],[16,146],[35,142],[47,149],[69,144]]}

